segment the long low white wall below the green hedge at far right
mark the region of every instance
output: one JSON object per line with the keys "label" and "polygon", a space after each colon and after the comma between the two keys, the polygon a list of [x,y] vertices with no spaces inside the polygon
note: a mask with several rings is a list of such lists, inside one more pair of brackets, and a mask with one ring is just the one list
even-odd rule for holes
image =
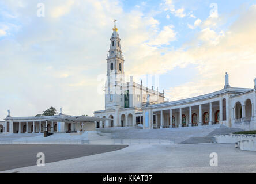
{"label": "long low white wall below the green hedge at far right", "polygon": [[243,140],[254,140],[256,141],[255,134],[229,134],[229,135],[215,135],[215,140],[217,143],[227,143],[227,144],[235,144],[238,141]]}

